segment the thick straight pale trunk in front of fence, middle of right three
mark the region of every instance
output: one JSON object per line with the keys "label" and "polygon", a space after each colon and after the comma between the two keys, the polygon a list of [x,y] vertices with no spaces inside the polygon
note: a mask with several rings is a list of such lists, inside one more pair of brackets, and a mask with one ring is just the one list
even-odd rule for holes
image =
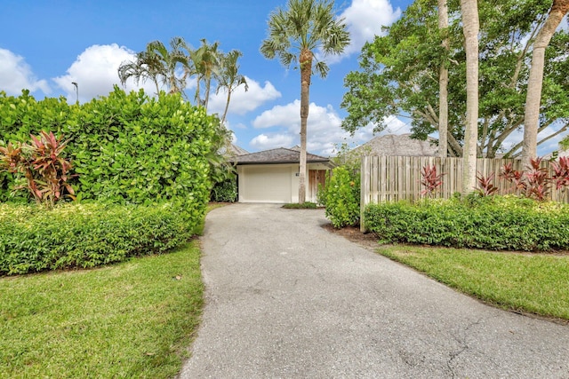
{"label": "thick straight pale trunk in front of fence, middle of right three", "polygon": [[478,139],[478,6],[477,0],[461,0],[462,31],[466,48],[466,125],[462,153],[462,194],[477,185]]}

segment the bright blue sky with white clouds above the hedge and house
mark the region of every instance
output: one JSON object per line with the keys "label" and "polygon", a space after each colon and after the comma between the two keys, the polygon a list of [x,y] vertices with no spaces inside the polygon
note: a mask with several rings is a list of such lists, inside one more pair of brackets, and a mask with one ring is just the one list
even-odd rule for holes
{"label": "bright blue sky with white clouds above the hedge and house", "polygon": [[[351,137],[340,128],[346,113],[340,107],[343,78],[357,69],[366,40],[381,34],[382,26],[397,20],[411,0],[336,0],[352,43],[340,58],[327,59],[325,79],[310,86],[309,151],[330,155],[343,142],[356,146],[373,138],[372,126]],[[229,108],[228,128],[236,145],[255,152],[299,144],[300,74],[268,60],[259,52],[271,11],[286,0],[0,0],[0,91],[19,95],[28,88],[36,99],[65,96],[80,101],[106,96],[119,83],[116,69],[136,51],[159,40],[182,36],[194,47],[205,38],[220,50],[243,52],[240,72],[249,91],[241,87]],[[127,83],[125,90],[135,89]],[[150,83],[145,85],[153,93]],[[188,93],[193,93],[189,90]],[[191,98],[191,95],[190,95]],[[223,96],[213,96],[209,111],[222,113]],[[409,131],[407,120],[392,119],[383,133]],[[553,149],[556,148],[552,145]]]}

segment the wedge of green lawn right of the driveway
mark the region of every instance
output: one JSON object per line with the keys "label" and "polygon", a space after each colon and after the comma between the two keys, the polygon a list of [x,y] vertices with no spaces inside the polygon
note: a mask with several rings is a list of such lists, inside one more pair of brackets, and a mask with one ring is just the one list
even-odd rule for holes
{"label": "wedge of green lawn right of the driveway", "polygon": [[503,309],[569,320],[569,255],[418,246],[378,251]]}

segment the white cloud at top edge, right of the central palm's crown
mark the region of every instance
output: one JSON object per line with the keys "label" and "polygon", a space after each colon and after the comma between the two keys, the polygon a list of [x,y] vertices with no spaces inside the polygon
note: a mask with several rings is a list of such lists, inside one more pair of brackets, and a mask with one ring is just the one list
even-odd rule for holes
{"label": "white cloud at top edge, right of the central palm's crown", "polygon": [[[389,27],[401,16],[401,9],[393,9],[389,0],[353,0],[352,4],[341,13],[340,17],[349,31],[351,43],[339,56],[330,56],[326,60],[334,63],[353,53],[359,53],[365,42],[373,41],[374,36],[383,36],[382,27]],[[318,59],[322,54],[318,54]]]}

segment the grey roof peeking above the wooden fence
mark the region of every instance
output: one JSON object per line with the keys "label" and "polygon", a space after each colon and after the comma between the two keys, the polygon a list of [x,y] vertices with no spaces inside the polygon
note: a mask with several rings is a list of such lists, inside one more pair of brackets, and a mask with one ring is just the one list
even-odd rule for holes
{"label": "grey roof peeking above the wooden fence", "polygon": [[364,145],[357,146],[352,152],[390,156],[436,156],[438,146],[435,141],[435,138],[430,137],[426,141],[414,139],[410,133],[388,134],[373,138]]}

